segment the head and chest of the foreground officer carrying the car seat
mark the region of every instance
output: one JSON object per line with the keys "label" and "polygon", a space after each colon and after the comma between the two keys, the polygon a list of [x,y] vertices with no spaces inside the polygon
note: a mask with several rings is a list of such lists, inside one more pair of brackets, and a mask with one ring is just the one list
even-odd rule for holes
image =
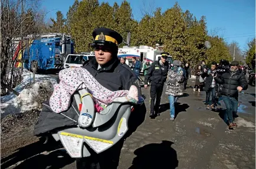
{"label": "head and chest of the foreground officer carrying the car seat", "polygon": [[97,81],[111,91],[129,90],[131,85],[137,85],[137,77],[131,69],[120,64],[117,51],[122,36],[107,28],[98,28],[93,31],[95,58],[87,61],[83,68],[86,68]]}

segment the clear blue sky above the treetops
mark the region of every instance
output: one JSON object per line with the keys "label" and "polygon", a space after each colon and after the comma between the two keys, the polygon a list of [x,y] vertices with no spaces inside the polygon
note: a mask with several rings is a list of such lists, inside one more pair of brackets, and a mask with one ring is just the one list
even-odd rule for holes
{"label": "clear blue sky above the treetops", "polygon": [[[128,2],[132,7],[134,19],[140,20],[143,9],[160,7],[164,12],[172,8],[176,1],[129,0]],[[122,0],[99,0],[99,2],[109,2],[110,5],[117,2],[120,5]],[[48,12],[47,18],[55,18],[58,10],[65,16],[73,3],[72,0],[42,0],[41,5]],[[241,49],[247,47],[247,42],[255,37],[255,0],[180,0],[178,3],[183,11],[188,9],[198,19],[205,15],[208,31],[218,30],[218,35],[223,36],[228,43],[237,41]]]}

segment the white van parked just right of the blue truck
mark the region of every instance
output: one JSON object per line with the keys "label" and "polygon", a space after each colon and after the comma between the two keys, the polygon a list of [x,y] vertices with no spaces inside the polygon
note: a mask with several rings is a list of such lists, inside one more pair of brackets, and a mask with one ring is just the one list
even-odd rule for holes
{"label": "white van parked just right of the blue truck", "polygon": [[69,54],[64,62],[64,68],[83,66],[84,62],[94,58],[95,55],[85,55],[85,54]]}

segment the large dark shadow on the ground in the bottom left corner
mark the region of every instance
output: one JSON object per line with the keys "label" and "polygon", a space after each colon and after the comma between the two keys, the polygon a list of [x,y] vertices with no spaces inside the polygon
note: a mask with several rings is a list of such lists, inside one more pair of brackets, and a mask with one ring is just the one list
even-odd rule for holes
{"label": "large dark shadow on the ground in the bottom left corner", "polygon": [[[57,150],[62,145],[59,142],[42,144],[42,141],[17,149],[14,154],[1,159],[1,168],[8,168],[20,163],[15,168],[63,168],[74,162],[63,150]],[[56,150],[56,151],[54,151]],[[52,151],[51,153],[47,153]],[[51,167],[50,167],[51,166]]]}

